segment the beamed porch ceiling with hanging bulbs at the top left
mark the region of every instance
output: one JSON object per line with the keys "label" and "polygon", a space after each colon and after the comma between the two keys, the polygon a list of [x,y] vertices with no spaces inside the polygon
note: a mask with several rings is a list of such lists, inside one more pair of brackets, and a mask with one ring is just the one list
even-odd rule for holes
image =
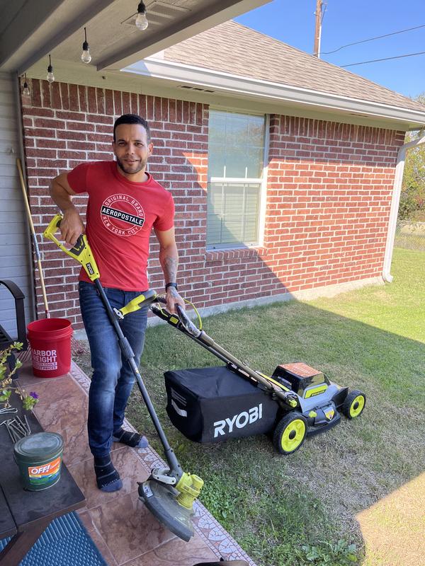
{"label": "beamed porch ceiling with hanging bulbs at the top left", "polygon": [[49,53],[53,64],[79,61],[84,26],[91,66],[122,69],[271,0],[146,0],[143,32],[138,1],[0,0],[0,71],[22,74]]}

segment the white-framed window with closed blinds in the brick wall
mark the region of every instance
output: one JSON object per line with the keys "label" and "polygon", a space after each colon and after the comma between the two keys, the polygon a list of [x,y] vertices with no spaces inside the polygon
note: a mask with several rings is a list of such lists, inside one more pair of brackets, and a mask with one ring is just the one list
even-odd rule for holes
{"label": "white-framed window with closed blinds in the brick wall", "polygon": [[259,243],[265,117],[210,110],[207,246]]}

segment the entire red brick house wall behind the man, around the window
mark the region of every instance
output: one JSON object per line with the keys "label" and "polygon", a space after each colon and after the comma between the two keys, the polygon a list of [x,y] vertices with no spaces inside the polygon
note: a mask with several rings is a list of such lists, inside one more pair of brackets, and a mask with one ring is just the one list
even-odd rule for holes
{"label": "entire red brick house wall behind the man, around the window", "polygon": [[[402,132],[272,116],[264,246],[207,252],[208,106],[66,83],[30,87],[23,129],[38,233],[57,212],[50,179],[111,158],[115,117],[135,112],[152,127],[149,172],[176,202],[180,288],[198,306],[380,275]],[[84,209],[85,197],[76,200]],[[152,238],[149,279],[162,290],[158,248]],[[41,250],[52,316],[81,328],[77,262],[52,243]],[[38,281],[36,289],[42,316]]]}

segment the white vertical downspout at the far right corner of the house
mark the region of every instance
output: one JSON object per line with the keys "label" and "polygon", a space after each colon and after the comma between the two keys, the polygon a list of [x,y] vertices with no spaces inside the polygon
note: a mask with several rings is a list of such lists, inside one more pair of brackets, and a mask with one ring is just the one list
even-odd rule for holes
{"label": "white vertical downspout at the far right corner of the house", "polygon": [[425,136],[409,141],[404,146],[401,146],[397,156],[397,166],[395,168],[394,187],[392,189],[392,201],[390,211],[390,221],[388,223],[387,244],[385,246],[384,267],[382,269],[382,279],[386,283],[392,282],[391,260],[392,250],[394,249],[395,229],[397,228],[398,207],[400,202],[400,194],[402,192],[404,161],[406,159],[406,152],[412,147],[419,146],[425,143]]}

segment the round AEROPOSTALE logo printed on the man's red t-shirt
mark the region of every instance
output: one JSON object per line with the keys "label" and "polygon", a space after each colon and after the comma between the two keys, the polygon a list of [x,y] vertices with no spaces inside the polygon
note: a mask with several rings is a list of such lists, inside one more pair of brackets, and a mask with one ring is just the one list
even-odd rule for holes
{"label": "round AEROPOSTALE logo printed on the man's red t-shirt", "polygon": [[134,197],[118,193],[103,201],[101,219],[116,236],[134,236],[145,224],[145,211]]}

